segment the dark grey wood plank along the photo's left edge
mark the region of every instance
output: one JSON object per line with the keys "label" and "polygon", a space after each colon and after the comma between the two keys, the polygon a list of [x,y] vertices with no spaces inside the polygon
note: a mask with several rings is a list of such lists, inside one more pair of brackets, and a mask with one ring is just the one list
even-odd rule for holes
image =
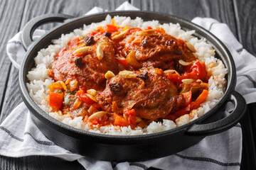
{"label": "dark grey wood plank along the photo's left edge", "polygon": [[11,71],[11,62],[6,55],[6,43],[18,33],[24,6],[25,0],[0,1],[0,111],[4,103],[5,91]]}

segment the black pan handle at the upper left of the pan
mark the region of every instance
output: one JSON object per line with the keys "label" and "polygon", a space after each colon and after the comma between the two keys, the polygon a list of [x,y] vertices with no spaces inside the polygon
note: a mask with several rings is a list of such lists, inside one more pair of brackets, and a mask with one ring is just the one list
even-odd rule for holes
{"label": "black pan handle at the upper left of the pan", "polygon": [[31,21],[26,23],[26,26],[23,28],[23,33],[21,35],[23,47],[28,50],[29,45],[33,42],[33,32],[38,28],[38,26],[41,26],[43,23],[63,22],[70,18],[74,17],[62,13],[50,13],[33,18]]}

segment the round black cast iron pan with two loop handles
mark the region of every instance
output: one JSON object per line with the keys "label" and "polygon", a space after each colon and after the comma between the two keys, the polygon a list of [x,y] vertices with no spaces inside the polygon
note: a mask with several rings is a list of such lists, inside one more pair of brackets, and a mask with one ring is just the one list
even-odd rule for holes
{"label": "round black cast iron pan with two loop handles", "polygon": [[[158,20],[160,23],[180,23],[181,28],[184,30],[196,30],[194,35],[198,38],[206,38],[213,45],[216,51],[216,57],[222,60],[225,67],[228,68],[228,75],[226,76],[228,85],[220,102],[208,111],[208,113],[186,125],[164,132],[134,136],[102,135],[78,130],[55,120],[43,112],[29,96],[26,87],[26,83],[28,82],[26,75],[35,64],[33,57],[36,57],[39,50],[50,45],[50,40],[59,38],[63,33],[70,33],[75,28],[82,27],[83,24],[100,22],[105,19],[107,14],[110,16],[130,16],[131,18],[139,16],[144,21]],[[233,58],[218,38],[200,26],[182,18],[177,18],[176,16],[144,11],[117,11],[70,18],[72,17],[63,14],[38,16],[30,21],[23,30],[23,45],[27,49],[27,52],[19,72],[21,96],[26,106],[33,113],[31,115],[38,128],[57,145],[71,152],[100,160],[118,162],[142,161],[180,152],[183,149],[195,145],[207,135],[228,130],[233,125],[236,125],[240,118],[242,118],[242,115],[244,115],[246,110],[245,99],[234,91],[236,74]],[[65,23],[50,30],[50,32],[32,44],[32,34],[38,26],[46,22],[56,21],[65,21]],[[223,107],[228,101],[233,102],[233,112],[228,117],[221,119],[224,113]]]}

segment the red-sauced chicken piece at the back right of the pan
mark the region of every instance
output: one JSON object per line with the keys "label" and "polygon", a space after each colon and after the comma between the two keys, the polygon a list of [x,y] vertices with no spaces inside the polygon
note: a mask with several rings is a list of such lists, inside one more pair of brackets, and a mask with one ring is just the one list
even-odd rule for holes
{"label": "red-sauced chicken piece at the back right of the pan", "polygon": [[143,67],[169,69],[170,62],[192,57],[183,40],[178,40],[167,33],[155,32],[152,35],[140,35],[141,29],[130,29],[126,37],[118,44],[123,56],[134,51],[138,62]]}

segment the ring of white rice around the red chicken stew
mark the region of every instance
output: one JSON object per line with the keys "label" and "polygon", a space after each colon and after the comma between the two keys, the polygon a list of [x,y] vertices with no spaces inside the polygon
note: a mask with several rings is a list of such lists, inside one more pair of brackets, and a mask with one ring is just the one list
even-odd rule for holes
{"label": "ring of white rice around the red chicken stew", "polygon": [[181,30],[181,26],[177,23],[164,23],[163,25],[159,24],[159,21],[143,21],[142,18],[137,17],[132,20],[129,17],[123,16],[114,16],[114,20],[117,22],[118,26],[129,28],[138,27],[145,29],[147,26],[151,26],[151,28],[161,27],[166,30],[166,33],[170,35],[180,38],[182,40],[186,40],[194,45],[196,49],[196,57],[198,60],[204,61],[206,63],[206,69],[212,77],[210,77],[208,84],[208,97],[206,98],[206,102],[201,104],[201,107],[191,111],[188,115],[183,115],[180,118],[177,118],[175,123],[172,120],[164,120],[163,123],[152,122],[146,128],[136,128],[132,130],[130,127],[115,127],[115,126],[102,126],[100,128],[91,128],[86,123],[82,122],[82,117],[74,118],[65,118],[62,113],[53,113],[50,112],[50,108],[48,107],[48,86],[53,84],[53,79],[48,77],[47,69],[51,68],[51,64],[53,63],[53,57],[58,53],[60,49],[67,46],[68,41],[73,38],[79,36],[85,36],[87,33],[90,33],[92,30],[97,28],[98,26],[105,27],[107,24],[111,24],[112,18],[107,16],[105,21],[100,23],[92,23],[89,26],[83,26],[83,28],[75,29],[73,33],[68,33],[65,35],[61,35],[57,40],[52,40],[53,45],[49,45],[46,49],[42,49],[38,52],[38,55],[35,57],[36,67],[31,69],[28,72],[28,80],[30,83],[27,84],[29,94],[31,98],[38,104],[38,106],[48,113],[53,118],[60,120],[61,122],[73,126],[75,128],[81,130],[87,130],[90,132],[104,133],[110,135],[142,135],[149,134],[154,132],[161,132],[164,130],[170,130],[172,128],[176,128],[178,126],[189,123],[196,118],[201,117],[204,113],[208,112],[210,108],[218,103],[220,98],[223,96],[225,91],[225,74],[228,73],[228,70],[224,67],[224,64],[221,60],[215,58],[215,51],[213,47],[206,43],[205,39],[198,40],[198,38],[194,37],[192,34],[195,33],[194,30],[184,31]]}

